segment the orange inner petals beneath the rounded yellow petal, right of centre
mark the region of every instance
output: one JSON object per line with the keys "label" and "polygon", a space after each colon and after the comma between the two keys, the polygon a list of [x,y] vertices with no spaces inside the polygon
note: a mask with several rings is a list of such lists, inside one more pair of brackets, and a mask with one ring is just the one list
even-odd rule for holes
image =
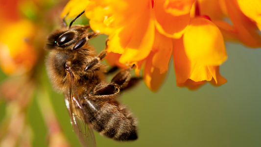
{"label": "orange inner petals beneath the rounded yellow petal, right of centre", "polygon": [[188,58],[183,46],[183,37],[175,41],[173,58],[176,82],[179,87],[196,89],[205,81],[212,81],[212,79],[216,81],[215,85],[222,85],[226,82],[226,79],[219,74],[218,66],[202,65]]}

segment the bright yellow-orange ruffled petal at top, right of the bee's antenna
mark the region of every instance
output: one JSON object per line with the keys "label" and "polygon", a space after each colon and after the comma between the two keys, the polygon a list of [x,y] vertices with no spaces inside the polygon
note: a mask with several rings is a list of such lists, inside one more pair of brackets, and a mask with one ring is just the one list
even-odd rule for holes
{"label": "bright yellow-orange ruffled petal at top, right of the bee's antenna", "polygon": [[91,28],[95,32],[111,34],[122,26],[137,22],[138,16],[149,7],[149,2],[151,3],[150,0],[92,0],[86,7],[85,15],[90,19]]}

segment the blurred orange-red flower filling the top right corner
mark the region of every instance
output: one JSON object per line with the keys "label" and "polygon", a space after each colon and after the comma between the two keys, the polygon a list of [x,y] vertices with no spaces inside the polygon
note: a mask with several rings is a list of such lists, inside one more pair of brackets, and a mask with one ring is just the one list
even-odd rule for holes
{"label": "blurred orange-red flower filling the top right corner", "polygon": [[[259,0],[198,0],[201,15],[207,15],[219,27],[226,40],[261,47],[257,25],[260,24]],[[233,25],[223,22],[229,17]]]}

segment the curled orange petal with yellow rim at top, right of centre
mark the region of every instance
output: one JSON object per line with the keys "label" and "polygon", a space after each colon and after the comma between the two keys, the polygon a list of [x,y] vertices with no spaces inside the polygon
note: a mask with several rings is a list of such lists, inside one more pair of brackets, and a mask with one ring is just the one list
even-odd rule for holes
{"label": "curled orange petal with yellow rim at top, right of centre", "polygon": [[155,25],[160,33],[171,38],[180,38],[185,31],[186,26],[190,23],[190,12],[174,16],[166,13],[164,1],[155,0]]}

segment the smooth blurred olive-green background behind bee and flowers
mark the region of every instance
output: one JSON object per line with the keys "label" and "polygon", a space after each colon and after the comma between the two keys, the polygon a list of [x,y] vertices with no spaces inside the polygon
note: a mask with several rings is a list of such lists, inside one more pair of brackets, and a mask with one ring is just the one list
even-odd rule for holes
{"label": "smooth blurred olive-green background behind bee and flowers", "polygon": [[[93,39],[97,50],[104,49],[105,35]],[[209,83],[196,91],[176,86],[173,62],[157,93],[143,82],[122,93],[120,99],[139,120],[139,139],[116,142],[95,132],[97,147],[261,147],[261,49],[226,44],[228,60],[220,73],[228,82],[220,87]],[[45,67],[44,79],[48,80]],[[6,76],[0,73],[0,81]],[[80,147],[62,94],[52,90],[53,107],[72,147]],[[5,102],[0,101],[0,120]],[[34,147],[47,147],[47,129],[34,98],[28,112]]]}

